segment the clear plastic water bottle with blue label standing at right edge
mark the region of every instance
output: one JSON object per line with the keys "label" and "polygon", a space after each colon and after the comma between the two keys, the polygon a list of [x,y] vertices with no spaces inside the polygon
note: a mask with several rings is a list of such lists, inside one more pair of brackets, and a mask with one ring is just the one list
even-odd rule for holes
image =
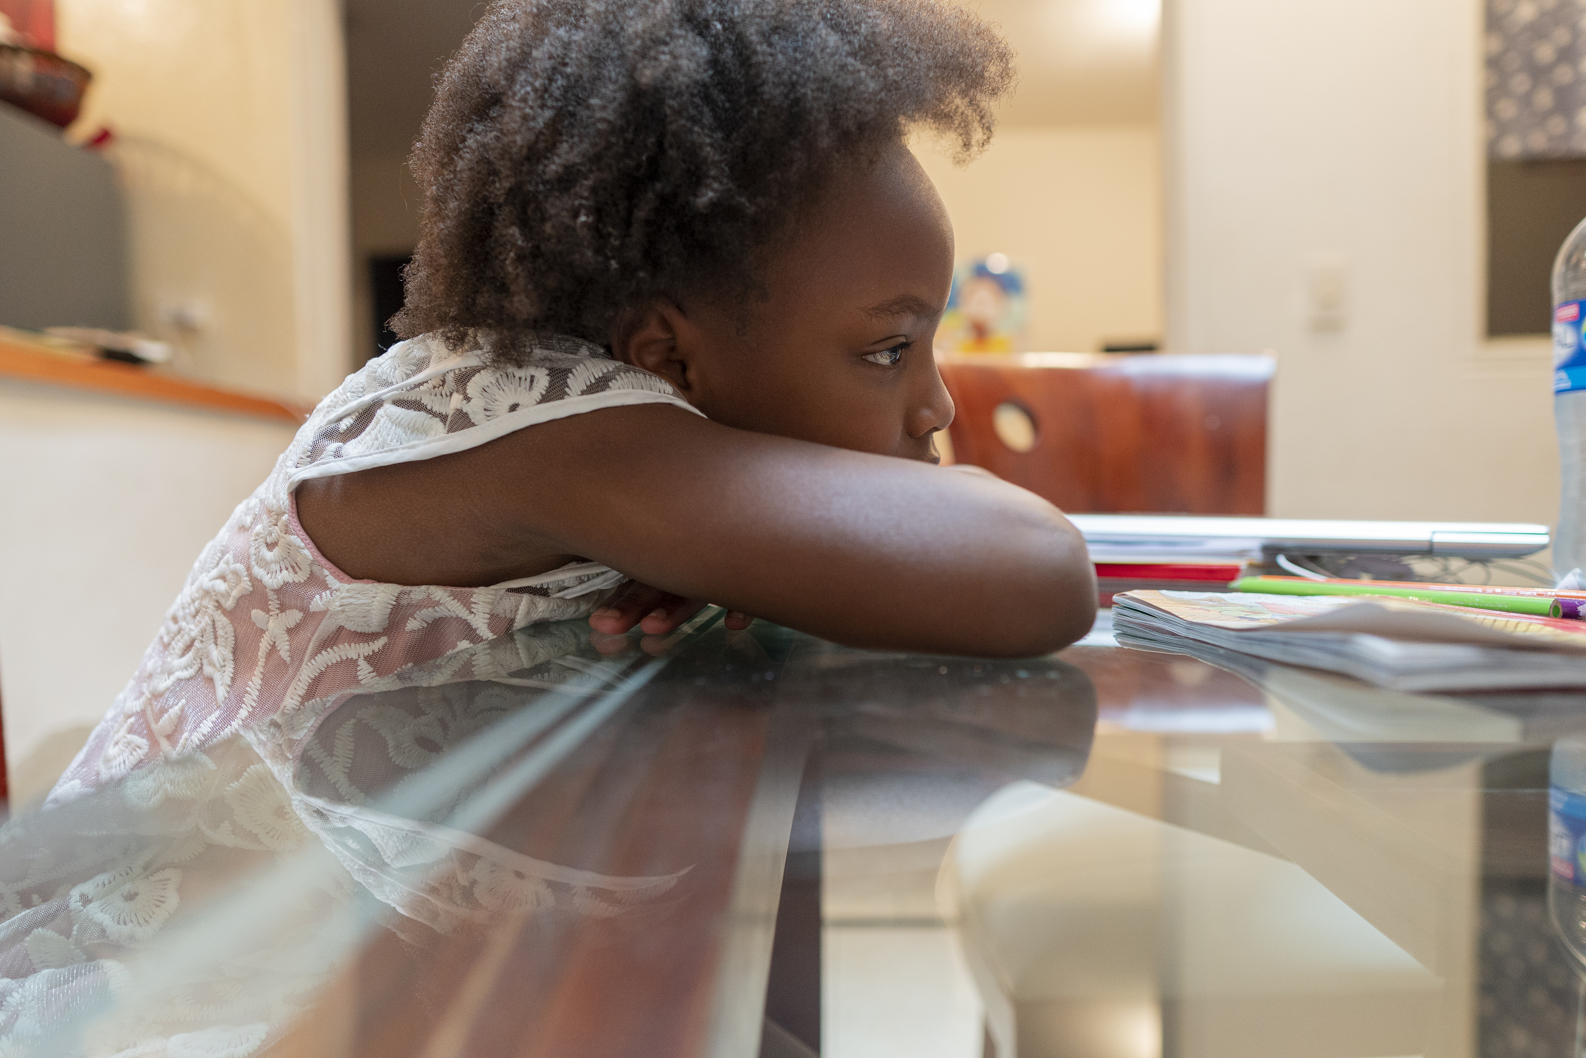
{"label": "clear plastic water bottle with blue label standing at right edge", "polygon": [[1553,420],[1559,430],[1559,530],[1553,568],[1586,568],[1586,220],[1553,262]]}

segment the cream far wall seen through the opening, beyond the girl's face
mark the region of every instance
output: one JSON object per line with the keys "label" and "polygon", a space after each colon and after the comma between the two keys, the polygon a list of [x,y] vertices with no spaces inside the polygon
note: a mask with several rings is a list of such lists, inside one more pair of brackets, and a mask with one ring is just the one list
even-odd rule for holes
{"label": "cream far wall seen through the opening, beyond the girl's face", "polygon": [[1155,125],[1013,125],[955,167],[915,144],[953,220],[958,259],[1023,266],[1026,351],[1094,352],[1161,336],[1161,160]]}

